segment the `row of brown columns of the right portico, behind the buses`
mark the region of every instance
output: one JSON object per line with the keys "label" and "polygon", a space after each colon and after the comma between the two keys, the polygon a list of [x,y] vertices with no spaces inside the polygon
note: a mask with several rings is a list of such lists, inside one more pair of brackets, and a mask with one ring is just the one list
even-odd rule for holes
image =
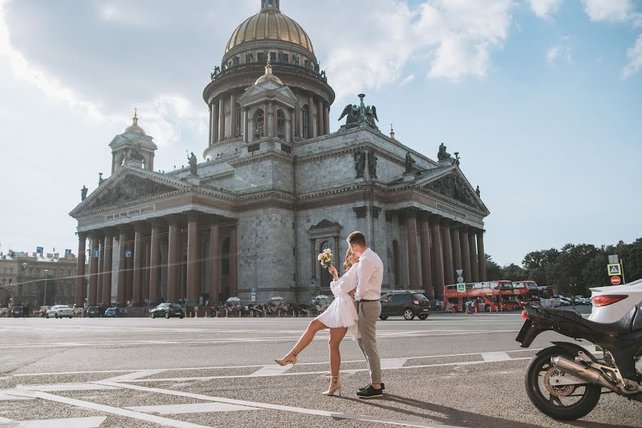
{"label": "row of brown columns of the right portico, behind the buses", "polygon": [[418,208],[386,213],[386,221],[394,217],[407,234],[411,290],[423,285],[426,297],[443,299],[443,286],[457,282],[459,269],[465,282],[486,281],[483,229]]}

